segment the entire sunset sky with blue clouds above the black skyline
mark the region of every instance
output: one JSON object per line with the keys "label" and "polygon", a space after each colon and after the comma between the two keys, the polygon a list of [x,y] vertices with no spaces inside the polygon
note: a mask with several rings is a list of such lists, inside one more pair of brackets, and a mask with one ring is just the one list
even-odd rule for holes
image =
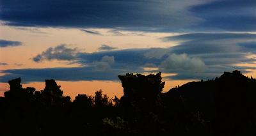
{"label": "entire sunset sky with blue clouds above the black skyline", "polygon": [[0,0],[8,80],[65,95],[122,96],[118,75],[162,72],[164,91],[241,70],[256,77],[255,0]]}

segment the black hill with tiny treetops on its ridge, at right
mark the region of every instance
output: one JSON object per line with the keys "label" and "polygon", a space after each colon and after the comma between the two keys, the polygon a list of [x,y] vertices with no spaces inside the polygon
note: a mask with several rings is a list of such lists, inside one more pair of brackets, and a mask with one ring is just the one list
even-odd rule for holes
{"label": "black hill with tiny treetops on its ridge, at right", "polygon": [[209,134],[255,135],[255,89],[256,80],[236,70],[224,72],[215,80],[189,82],[170,89],[163,99],[170,110],[180,105],[177,110],[182,110],[184,116],[197,116]]}

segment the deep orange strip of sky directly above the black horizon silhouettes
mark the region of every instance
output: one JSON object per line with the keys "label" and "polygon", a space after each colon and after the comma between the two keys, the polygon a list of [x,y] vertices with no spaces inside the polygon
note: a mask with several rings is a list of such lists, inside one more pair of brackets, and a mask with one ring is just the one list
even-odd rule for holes
{"label": "deep orange strip of sky directly above the black horizon silhouettes", "polygon": [[[191,80],[165,80],[165,85],[163,89],[163,93],[169,91],[175,86],[181,86],[182,84],[186,84]],[[56,81],[59,86],[61,86],[61,90],[63,91],[64,96],[71,96],[72,100],[74,100],[77,94],[88,94],[94,96],[95,91],[99,91],[102,89],[103,93],[107,94],[109,98],[114,98],[117,96],[120,98],[123,95],[123,87],[121,82],[113,82],[113,81],[77,81],[77,82],[67,82],[67,81]],[[30,82],[28,84],[22,84],[22,87],[35,87],[37,91],[44,89],[45,82]],[[8,83],[0,83],[0,96],[4,96],[4,91],[9,90]]]}

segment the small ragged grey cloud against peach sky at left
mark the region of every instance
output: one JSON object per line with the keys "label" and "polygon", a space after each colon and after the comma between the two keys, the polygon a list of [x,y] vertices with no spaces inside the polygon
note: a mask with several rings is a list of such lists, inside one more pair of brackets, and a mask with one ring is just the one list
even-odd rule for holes
{"label": "small ragged grey cloud against peach sky at left", "polygon": [[33,57],[33,61],[40,62],[40,61],[51,61],[52,59],[56,60],[64,60],[64,61],[71,61],[76,59],[76,55],[79,52],[77,48],[70,49],[67,45],[58,45],[56,47],[50,47],[41,54]]}

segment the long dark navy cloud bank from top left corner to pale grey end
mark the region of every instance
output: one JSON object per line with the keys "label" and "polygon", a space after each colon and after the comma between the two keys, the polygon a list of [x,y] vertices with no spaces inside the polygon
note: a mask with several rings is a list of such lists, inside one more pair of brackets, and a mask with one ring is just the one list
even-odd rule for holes
{"label": "long dark navy cloud bank from top left corner to pale grey end", "polygon": [[186,0],[24,0],[22,2],[2,0],[0,19],[10,26],[97,27],[163,31],[182,29],[182,27],[202,22],[203,20],[195,17],[189,8],[207,2],[200,0],[189,2]]}

